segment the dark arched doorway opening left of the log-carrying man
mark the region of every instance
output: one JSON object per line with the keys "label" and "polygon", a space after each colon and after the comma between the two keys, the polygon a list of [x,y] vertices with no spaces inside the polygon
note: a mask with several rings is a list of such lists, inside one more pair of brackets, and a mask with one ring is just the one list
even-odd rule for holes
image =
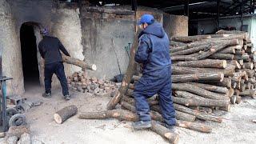
{"label": "dark arched doorway opening left of the log-carrying man", "polygon": [[39,86],[40,83],[34,26],[22,24],[20,38],[22,46],[22,70],[26,90],[28,86]]}

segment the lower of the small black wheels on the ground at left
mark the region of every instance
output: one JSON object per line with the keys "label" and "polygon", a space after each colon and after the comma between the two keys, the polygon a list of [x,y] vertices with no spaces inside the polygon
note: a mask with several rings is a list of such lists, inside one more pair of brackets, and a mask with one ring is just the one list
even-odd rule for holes
{"label": "lower of the small black wheels on the ground at left", "polygon": [[24,114],[15,114],[10,118],[9,126],[26,126],[26,116]]}

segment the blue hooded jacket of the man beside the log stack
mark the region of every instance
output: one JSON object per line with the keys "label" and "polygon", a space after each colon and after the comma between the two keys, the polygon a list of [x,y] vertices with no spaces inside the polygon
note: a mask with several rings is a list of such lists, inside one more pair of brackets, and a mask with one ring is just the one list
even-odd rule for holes
{"label": "blue hooded jacket of the man beside the log stack", "polygon": [[145,30],[142,30],[141,34],[139,34],[135,61],[143,63],[143,75],[155,75],[155,73],[162,70],[170,71],[171,60],[169,46],[169,38],[160,23],[154,22],[146,26]]}

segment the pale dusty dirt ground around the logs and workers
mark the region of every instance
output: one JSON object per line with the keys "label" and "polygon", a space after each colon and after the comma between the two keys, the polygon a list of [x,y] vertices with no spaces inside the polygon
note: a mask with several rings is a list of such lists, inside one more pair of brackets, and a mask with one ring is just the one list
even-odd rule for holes
{"label": "pale dusty dirt ground around the logs and workers", "polygon": [[[66,102],[61,90],[54,90],[52,98],[42,98],[42,88],[27,90],[24,97],[29,101],[41,101],[41,106],[26,112],[33,142],[46,144],[160,144],[168,143],[158,134],[150,130],[134,131],[130,122],[119,122],[115,119],[82,120],[78,119],[80,112],[105,110],[110,97],[99,97],[71,91],[73,98]],[[68,119],[62,125],[54,122],[54,112],[64,106],[78,106],[78,114]],[[180,136],[179,143],[256,143],[256,100],[243,99],[239,105],[234,105],[229,113],[218,112],[224,120],[222,123],[203,122],[213,127],[211,134],[202,134],[193,130],[176,127]],[[4,139],[0,139],[2,143]]]}

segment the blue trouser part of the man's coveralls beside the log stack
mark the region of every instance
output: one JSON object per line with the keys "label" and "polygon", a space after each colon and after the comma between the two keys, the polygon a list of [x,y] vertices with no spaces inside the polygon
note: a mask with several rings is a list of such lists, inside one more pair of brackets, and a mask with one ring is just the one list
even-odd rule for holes
{"label": "blue trouser part of the man's coveralls beside the log stack", "polygon": [[166,124],[174,126],[176,123],[175,110],[171,98],[170,67],[156,70],[151,74],[143,74],[135,84],[134,99],[140,121],[150,121],[150,106],[146,98],[158,94],[159,106]]}

